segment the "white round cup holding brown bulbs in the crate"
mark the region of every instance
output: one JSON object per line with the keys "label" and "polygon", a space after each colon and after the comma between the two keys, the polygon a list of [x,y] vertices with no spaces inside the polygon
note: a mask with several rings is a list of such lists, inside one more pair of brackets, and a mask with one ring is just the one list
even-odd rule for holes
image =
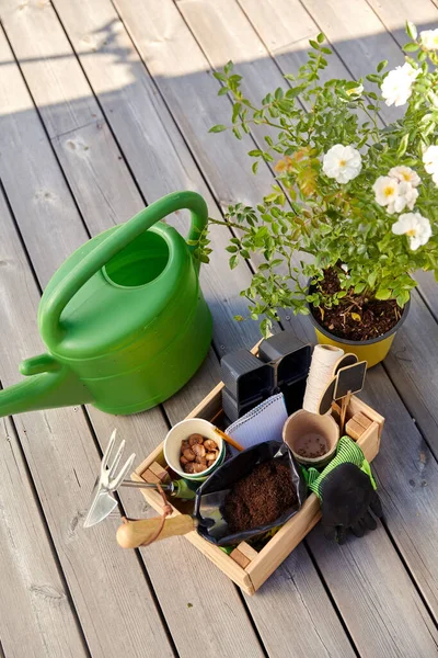
{"label": "white round cup holding brown bulbs in the crate", "polygon": [[[184,439],[188,439],[191,434],[200,434],[206,439],[212,439],[219,449],[219,455],[216,462],[206,470],[197,474],[185,473],[180,463],[181,444]],[[181,475],[181,477],[194,481],[206,480],[207,477],[222,464],[226,457],[226,445],[221,436],[215,432],[215,426],[203,418],[187,418],[186,420],[182,420],[181,422],[176,423],[168,432],[168,435],[164,439],[163,451],[164,458],[172,470]]]}

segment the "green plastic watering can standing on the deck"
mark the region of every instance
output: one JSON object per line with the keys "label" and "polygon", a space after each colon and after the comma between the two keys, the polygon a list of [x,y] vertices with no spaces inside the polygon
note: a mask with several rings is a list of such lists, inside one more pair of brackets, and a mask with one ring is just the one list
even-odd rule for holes
{"label": "green plastic watering can standing on the deck", "polygon": [[208,220],[195,192],[175,192],[78,249],[42,297],[48,352],[26,359],[28,377],[0,392],[0,417],[91,402],[136,413],[171,397],[204,361],[212,333],[199,265],[166,215],[188,208],[188,241]]}

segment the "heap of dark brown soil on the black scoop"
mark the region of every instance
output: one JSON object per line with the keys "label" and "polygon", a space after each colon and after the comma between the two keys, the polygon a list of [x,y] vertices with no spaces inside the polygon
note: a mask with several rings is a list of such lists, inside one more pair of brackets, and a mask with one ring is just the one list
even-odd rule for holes
{"label": "heap of dark brown soil on the black scoop", "polygon": [[242,532],[272,523],[296,503],[290,468],[279,460],[270,460],[233,485],[223,517],[231,532]]}

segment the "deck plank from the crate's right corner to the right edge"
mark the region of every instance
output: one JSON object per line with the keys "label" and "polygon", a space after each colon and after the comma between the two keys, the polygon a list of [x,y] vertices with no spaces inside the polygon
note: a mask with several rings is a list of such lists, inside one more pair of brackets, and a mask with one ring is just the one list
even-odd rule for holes
{"label": "deck plank from the crate's right corner to the right edge", "polygon": [[438,464],[381,371],[379,366],[368,373],[362,396],[387,416],[373,469],[378,475],[388,527],[438,619]]}

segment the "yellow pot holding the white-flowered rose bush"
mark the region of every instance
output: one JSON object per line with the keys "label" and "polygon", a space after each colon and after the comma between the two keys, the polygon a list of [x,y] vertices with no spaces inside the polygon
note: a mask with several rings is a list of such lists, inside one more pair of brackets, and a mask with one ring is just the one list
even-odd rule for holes
{"label": "yellow pot holding the white-flowered rose bush", "polygon": [[395,338],[395,333],[402,327],[405,321],[407,314],[410,311],[411,302],[403,308],[403,314],[396,325],[383,336],[379,336],[378,338],[371,338],[369,340],[347,340],[346,338],[338,338],[337,336],[333,336],[325,327],[322,327],[320,322],[316,320],[312,313],[312,308],[309,306],[310,310],[310,319],[314,327],[316,340],[320,344],[334,345],[335,348],[341,348],[345,352],[353,352],[356,354],[359,361],[366,361],[368,367],[372,367],[377,365],[388,355],[388,352],[391,349],[392,342]]}

